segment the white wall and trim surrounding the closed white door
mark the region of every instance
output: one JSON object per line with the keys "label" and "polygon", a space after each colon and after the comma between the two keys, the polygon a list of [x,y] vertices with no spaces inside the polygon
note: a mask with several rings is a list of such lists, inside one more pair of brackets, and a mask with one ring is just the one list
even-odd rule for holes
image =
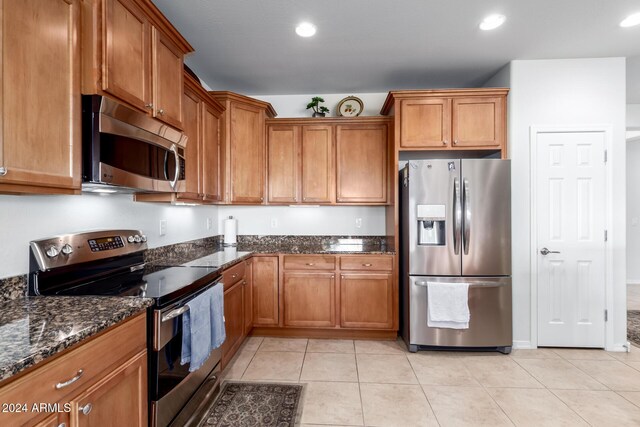
{"label": "white wall and trim surrounding the closed white door", "polygon": [[[625,60],[624,58],[512,61],[490,80],[511,87],[508,100],[509,157],[512,159],[514,344],[536,346],[531,331],[530,158],[532,125],[611,125],[613,149],[614,251],[613,345],[626,342]],[[611,337],[609,337],[611,338]],[[611,342],[610,342],[611,343]]]}

